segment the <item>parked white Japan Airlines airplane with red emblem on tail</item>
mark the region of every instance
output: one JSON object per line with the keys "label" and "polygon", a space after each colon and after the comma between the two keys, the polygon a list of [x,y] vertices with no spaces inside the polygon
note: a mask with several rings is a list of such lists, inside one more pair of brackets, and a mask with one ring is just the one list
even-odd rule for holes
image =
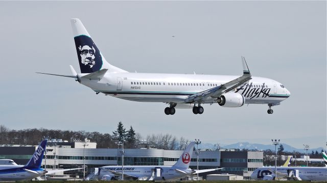
{"label": "parked white Japan Airlines airplane with red emblem on tail", "polygon": [[[194,142],[184,150],[173,166],[124,166],[124,179],[133,180],[176,180],[188,175],[215,171],[217,169],[192,170],[189,168]],[[103,166],[99,168],[99,179],[122,179],[122,166]]]}

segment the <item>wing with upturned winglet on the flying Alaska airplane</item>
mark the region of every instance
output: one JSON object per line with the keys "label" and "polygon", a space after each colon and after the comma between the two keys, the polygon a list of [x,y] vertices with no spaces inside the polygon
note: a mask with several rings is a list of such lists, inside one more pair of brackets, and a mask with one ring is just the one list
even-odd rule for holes
{"label": "wing with upturned winglet on the flying Alaska airplane", "polygon": [[185,99],[185,103],[193,103],[195,101],[202,101],[208,97],[214,97],[218,98],[223,93],[230,92],[233,89],[236,89],[238,86],[246,83],[251,79],[251,74],[249,71],[249,68],[247,67],[247,64],[245,62],[245,58],[242,56],[242,64],[243,64],[243,75],[231,80],[229,82],[226,82],[224,84],[221,84],[220,86],[216,86],[211,89],[204,90],[203,92],[196,93],[194,95],[191,95],[190,97]]}

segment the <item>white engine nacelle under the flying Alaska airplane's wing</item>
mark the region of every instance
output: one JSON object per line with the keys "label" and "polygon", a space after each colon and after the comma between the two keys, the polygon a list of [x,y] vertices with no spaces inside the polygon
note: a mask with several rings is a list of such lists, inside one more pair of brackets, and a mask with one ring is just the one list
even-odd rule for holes
{"label": "white engine nacelle under the flying Alaska airplane's wing", "polygon": [[222,107],[241,107],[244,103],[245,99],[239,93],[226,93],[218,98],[218,104]]}

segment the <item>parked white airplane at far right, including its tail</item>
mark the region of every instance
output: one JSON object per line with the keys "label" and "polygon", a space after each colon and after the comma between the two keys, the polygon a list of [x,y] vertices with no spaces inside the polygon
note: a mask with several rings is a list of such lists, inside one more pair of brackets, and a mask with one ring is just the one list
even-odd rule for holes
{"label": "parked white airplane at far right, including its tail", "polygon": [[[295,180],[327,180],[327,156],[322,153],[324,167],[277,167],[277,177]],[[254,180],[274,180],[275,167],[257,168],[251,174]]]}

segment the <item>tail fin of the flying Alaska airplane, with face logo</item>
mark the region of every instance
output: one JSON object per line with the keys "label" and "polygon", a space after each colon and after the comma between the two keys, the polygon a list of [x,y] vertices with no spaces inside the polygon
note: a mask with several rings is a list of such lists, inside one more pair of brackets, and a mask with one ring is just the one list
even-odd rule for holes
{"label": "tail fin of the flying Alaska airplane, with face logo", "polygon": [[106,61],[81,20],[72,18],[71,23],[81,73],[93,73],[101,69],[108,69],[109,73],[127,72]]}

